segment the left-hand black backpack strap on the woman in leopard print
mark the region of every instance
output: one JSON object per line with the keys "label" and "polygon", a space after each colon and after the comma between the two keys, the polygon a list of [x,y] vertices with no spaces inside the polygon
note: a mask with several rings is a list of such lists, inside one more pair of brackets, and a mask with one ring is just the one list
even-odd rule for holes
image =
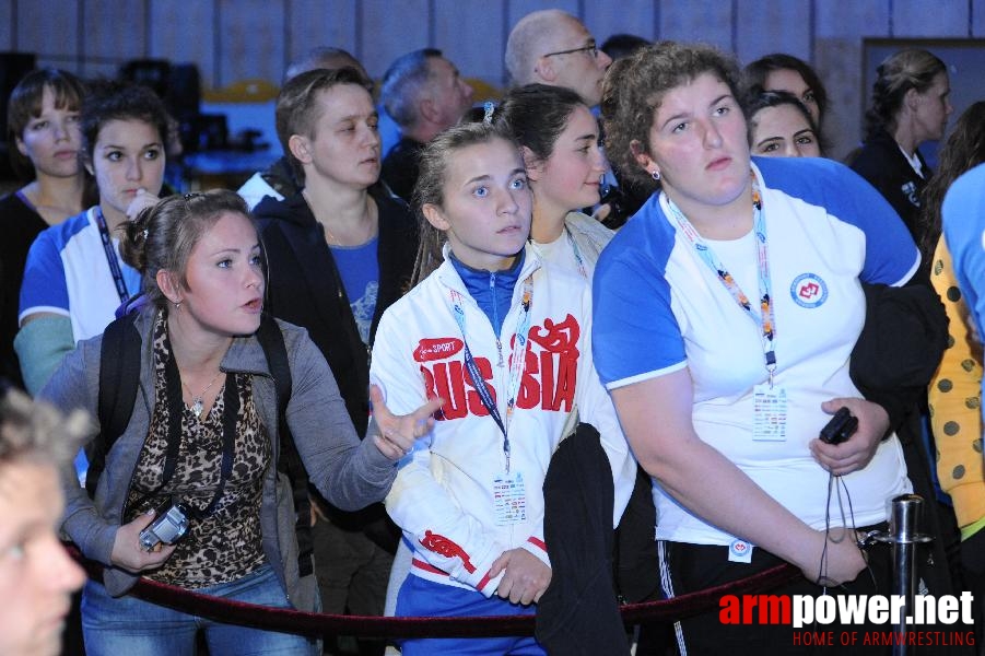
{"label": "left-hand black backpack strap on the woman in leopard print", "polygon": [[140,387],[140,333],[133,325],[137,314],[122,316],[106,327],[99,348],[99,434],[86,449],[89,470],[85,490],[90,496],[106,467],[106,454],[127,430],[137,389]]}

